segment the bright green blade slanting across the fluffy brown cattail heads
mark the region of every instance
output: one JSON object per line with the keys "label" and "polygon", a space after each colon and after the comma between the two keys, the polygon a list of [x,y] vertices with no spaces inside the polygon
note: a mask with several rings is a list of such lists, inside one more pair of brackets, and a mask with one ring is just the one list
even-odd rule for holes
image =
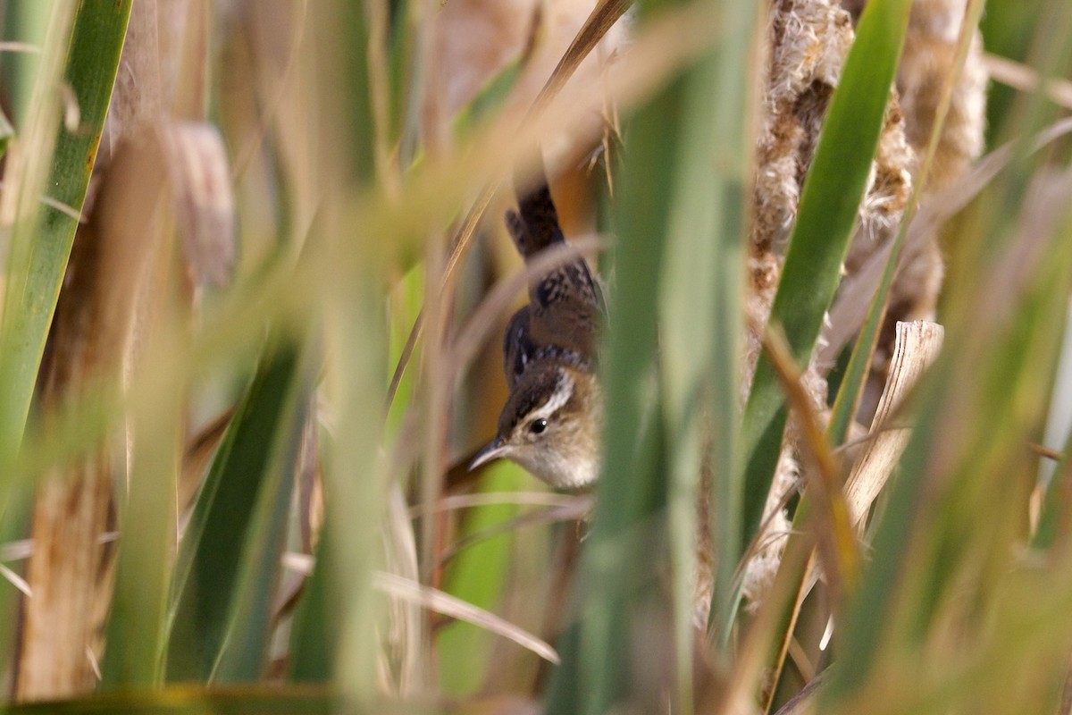
{"label": "bright green blade slanting across the fluffy brown cattail heads", "polygon": [[[840,278],[908,28],[910,0],[872,0],[827,109],[771,311],[798,366],[807,366]],[[756,366],[745,407],[743,543],[759,527],[786,424],[770,358]]]}

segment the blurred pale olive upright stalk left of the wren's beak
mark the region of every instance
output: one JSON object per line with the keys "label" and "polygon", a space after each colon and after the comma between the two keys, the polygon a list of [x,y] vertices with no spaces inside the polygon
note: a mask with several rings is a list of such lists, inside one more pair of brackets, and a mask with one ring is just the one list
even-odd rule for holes
{"label": "blurred pale olive upright stalk left of the wren's beak", "polygon": [[[294,677],[331,680],[352,703],[376,696],[377,601],[372,571],[387,494],[383,405],[387,385],[384,247],[397,237],[369,235],[349,206],[372,184],[373,126],[369,21],[364,3],[310,3],[317,73],[322,154],[321,212],[313,227],[332,257],[324,279],[325,394],[334,418],[325,446],[325,527],[310,604],[295,636]],[[345,77],[342,84],[324,76]]]}

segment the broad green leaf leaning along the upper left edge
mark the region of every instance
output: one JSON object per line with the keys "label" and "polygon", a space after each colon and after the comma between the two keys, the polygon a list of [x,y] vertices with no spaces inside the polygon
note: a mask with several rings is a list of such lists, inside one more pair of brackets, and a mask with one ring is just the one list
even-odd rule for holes
{"label": "broad green leaf leaning along the upper left edge", "polygon": [[[26,428],[45,338],[56,311],[74,232],[96,160],[111,98],[131,0],[56,5],[31,108],[32,131],[25,134],[19,176],[23,195],[11,236],[0,325],[0,517],[11,494],[13,463]],[[68,29],[70,28],[70,29]],[[61,33],[70,32],[70,43]],[[56,55],[62,53],[62,55]],[[51,68],[59,68],[53,75]],[[68,85],[76,115],[64,119],[55,98]],[[77,126],[65,121],[76,116]],[[35,123],[35,124],[34,124]],[[50,158],[50,159],[49,159]],[[40,177],[38,179],[36,177]],[[40,183],[39,183],[40,181]],[[42,197],[43,194],[43,197]]]}

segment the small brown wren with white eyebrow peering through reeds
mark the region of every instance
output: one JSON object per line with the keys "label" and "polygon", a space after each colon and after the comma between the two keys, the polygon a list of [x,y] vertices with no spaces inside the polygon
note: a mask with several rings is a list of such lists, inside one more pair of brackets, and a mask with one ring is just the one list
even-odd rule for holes
{"label": "small brown wren with white eyebrow peering through reeds", "polygon": [[[565,242],[545,183],[522,196],[506,225],[521,256]],[[602,394],[596,377],[602,292],[577,258],[528,285],[528,304],[503,339],[509,398],[495,438],[470,465],[505,457],[552,487],[579,489],[599,476]]]}

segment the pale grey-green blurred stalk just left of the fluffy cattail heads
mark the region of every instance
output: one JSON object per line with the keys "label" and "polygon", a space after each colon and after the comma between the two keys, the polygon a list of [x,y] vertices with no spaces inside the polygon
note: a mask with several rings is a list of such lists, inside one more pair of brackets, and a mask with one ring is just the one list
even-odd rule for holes
{"label": "pale grey-green blurred stalk just left of the fluffy cattail heads", "polygon": [[[660,367],[667,427],[678,659],[694,647],[699,528],[710,531],[711,613],[727,625],[735,600],[741,481],[736,468],[745,187],[750,177],[746,78],[758,8],[719,2],[719,40],[683,79],[673,207],[660,285]],[[709,477],[700,486],[701,472]],[[703,492],[701,489],[709,491]],[[697,524],[698,500],[710,523]],[[721,643],[723,638],[715,642]],[[682,677],[690,675],[681,669]],[[682,700],[688,683],[679,684]]]}

